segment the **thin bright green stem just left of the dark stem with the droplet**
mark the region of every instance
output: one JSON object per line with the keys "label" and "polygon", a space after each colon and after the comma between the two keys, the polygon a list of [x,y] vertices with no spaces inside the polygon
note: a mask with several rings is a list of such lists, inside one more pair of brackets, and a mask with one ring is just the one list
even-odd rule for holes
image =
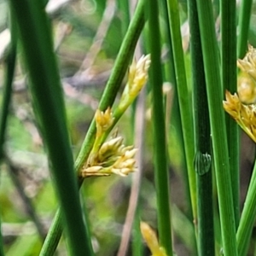
{"label": "thin bright green stem just left of the dark stem with the droplet", "polygon": [[186,163],[189,176],[189,191],[192,204],[193,218],[197,218],[196,213],[196,187],[195,172],[193,166],[194,159],[194,133],[192,125],[191,102],[187,87],[186,72],[183,59],[182,39],[180,33],[180,20],[177,0],[169,0],[168,12],[169,23],[172,33],[172,54],[174,57],[174,67],[177,80],[177,96],[181,114],[183,141],[185,148]]}

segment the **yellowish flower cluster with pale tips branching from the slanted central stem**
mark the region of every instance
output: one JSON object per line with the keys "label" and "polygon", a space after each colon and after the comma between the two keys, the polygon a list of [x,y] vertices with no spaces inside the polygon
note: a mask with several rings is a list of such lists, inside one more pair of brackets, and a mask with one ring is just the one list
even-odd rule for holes
{"label": "yellowish flower cluster with pale tips branching from the slanted central stem", "polygon": [[124,139],[117,134],[113,134],[108,141],[106,137],[146,84],[149,65],[150,55],[142,56],[139,61],[133,61],[118,107],[113,112],[111,108],[105,111],[96,110],[96,139],[79,173],[81,177],[108,176],[113,173],[127,176],[137,170],[134,159],[137,149],[133,146],[125,146]]}

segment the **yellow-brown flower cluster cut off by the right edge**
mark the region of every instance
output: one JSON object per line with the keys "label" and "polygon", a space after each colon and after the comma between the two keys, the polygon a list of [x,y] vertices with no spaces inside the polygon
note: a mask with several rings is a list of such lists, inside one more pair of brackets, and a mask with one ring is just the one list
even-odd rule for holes
{"label": "yellow-brown flower cluster cut off by the right edge", "polygon": [[237,66],[245,74],[238,80],[238,95],[226,91],[224,109],[256,143],[256,49],[253,46],[249,45],[247,55],[237,61]]}

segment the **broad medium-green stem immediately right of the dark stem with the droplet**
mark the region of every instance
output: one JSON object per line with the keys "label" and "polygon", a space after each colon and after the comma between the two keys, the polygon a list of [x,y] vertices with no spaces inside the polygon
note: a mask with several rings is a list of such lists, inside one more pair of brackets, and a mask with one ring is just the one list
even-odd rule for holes
{"label": "broad medium-green stem immediately right of the dark stem with the droplet", "polygon": [[222,240],[225,256],[236,256],[236,225],[230,179],[230,162],[220,82],[218,47],[211,1],[197,0],[203,61],[207,80],[207,97],[212,131],[212,148],[218,189]]}

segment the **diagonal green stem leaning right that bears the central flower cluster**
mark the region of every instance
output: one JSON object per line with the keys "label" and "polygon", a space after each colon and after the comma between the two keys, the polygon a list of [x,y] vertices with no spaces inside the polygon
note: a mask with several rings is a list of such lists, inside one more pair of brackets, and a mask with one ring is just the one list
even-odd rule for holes
{"label": "diagonal green stem leaning right that bears the central flower cluster", "polygon": [[[125,35],[123,43],[119,50],[119,55],[114,63],[113,72],[108,79],[108,84],[104,90],[99,108],[104,110],[108,106],[113,105],[114,97],[117,95],[119,87],[121,85],[122,79],[125,76],[125,72],[129,65],[129,60],[135,49],[137,39],[143,30],[145,23],[144,18],[144,0],[140,0],[134,16],[131,20],[129,29]],[[83,166],[84,161],[87,160],[90,149],[95,140],[96,125],[95,121],[90,124],[90,128],[86,133],[84,143],[80,149],[79,156],[75,161],[75,172],[79,173],[80,168]],[[79,187],[82,185],[83,179],[79,178]],[[61,227],[61,210],[55,214],[55,218],[49,228],[48,236],[44,241],[43,248],[41,250],[40,256],[51,256],[54,254],[56,247],[61,238],[62,227]]]}

